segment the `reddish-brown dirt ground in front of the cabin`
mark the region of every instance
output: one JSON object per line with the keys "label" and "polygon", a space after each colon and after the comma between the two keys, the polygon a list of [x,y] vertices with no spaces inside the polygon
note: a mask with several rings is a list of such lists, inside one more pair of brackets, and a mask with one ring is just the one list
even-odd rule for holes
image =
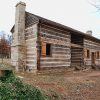
{"label": "reddish-brown dirt ground in front of the cabin", "polygon": [[50,100],[100,100],[100,71],[45,70],[17,75],[43,90]]}

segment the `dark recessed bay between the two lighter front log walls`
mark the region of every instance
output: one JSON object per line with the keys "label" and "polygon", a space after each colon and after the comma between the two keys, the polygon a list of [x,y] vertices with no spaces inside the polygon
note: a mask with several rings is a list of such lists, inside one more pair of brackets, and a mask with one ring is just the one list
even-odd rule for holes
{"label": "dark recessed bay between the two lighter front log walls", "polygon": [[71,66],[82,66],[83,64],[83,38],[71,34],[71,43],[77,45],[71,46]]}

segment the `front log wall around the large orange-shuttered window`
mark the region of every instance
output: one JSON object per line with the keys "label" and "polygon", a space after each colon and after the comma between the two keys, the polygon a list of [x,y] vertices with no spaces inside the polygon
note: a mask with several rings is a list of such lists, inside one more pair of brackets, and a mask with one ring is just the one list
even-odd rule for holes
{"label": "front log wall around the large orange-shuttered window", "polygon": [[40,42],[51,44],[51,56],[40,56],[40,67],[68,67],[71,64],[70,34],[56,28],[41,25]]}

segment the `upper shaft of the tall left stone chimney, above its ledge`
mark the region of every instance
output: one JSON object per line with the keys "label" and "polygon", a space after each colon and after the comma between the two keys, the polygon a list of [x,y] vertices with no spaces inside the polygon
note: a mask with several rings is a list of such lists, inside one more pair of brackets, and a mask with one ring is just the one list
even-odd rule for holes
{"label": "upper shaft of the tall left stone chimney, above its ledge", "polygon": [[15,34],[18,38],[16,41],[19,45],[24,43],[24,30],[25,30],[25,7],[24,2],[19,2],[16,5],[16,14],[15,14]]}

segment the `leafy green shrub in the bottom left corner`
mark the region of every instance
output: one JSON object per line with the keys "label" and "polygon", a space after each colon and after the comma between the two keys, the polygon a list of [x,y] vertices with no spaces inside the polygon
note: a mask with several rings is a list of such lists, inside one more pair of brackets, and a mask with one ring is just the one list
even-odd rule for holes
{"label": "leafy green shrub in the bottom left corner", "polygon": [[0,100],[45,100],[37,88],[23,83],[12,71],[0,78]]}

